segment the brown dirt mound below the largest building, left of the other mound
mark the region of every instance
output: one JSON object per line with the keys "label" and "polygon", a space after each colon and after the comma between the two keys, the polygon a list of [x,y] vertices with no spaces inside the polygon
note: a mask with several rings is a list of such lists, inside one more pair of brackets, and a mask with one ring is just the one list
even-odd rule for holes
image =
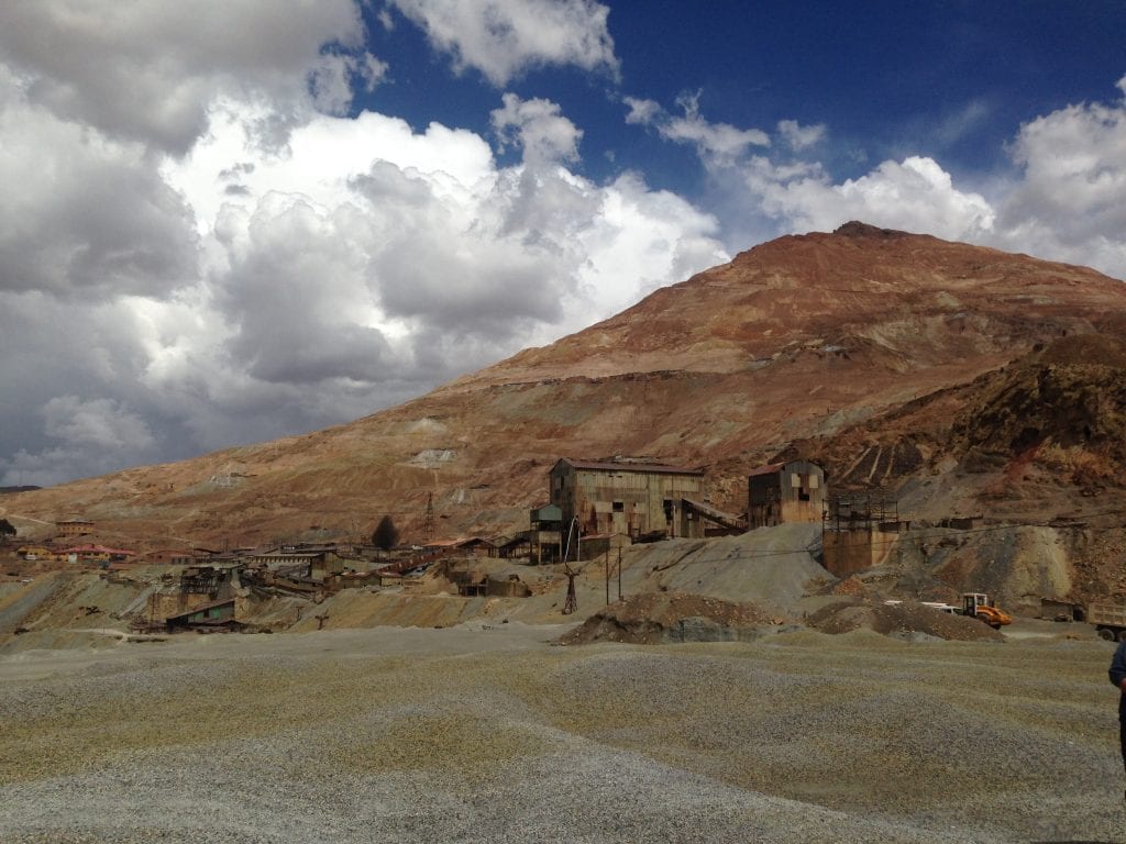
{"label": "brown dirt mound below the largest building, left of the other mound", "polygon": [[649,592],[613,603],[574,630],[561,645],[626,641],[733,641],[756,638],[759,628],[785,622],[781,616],[751,603],[683,592]]}

